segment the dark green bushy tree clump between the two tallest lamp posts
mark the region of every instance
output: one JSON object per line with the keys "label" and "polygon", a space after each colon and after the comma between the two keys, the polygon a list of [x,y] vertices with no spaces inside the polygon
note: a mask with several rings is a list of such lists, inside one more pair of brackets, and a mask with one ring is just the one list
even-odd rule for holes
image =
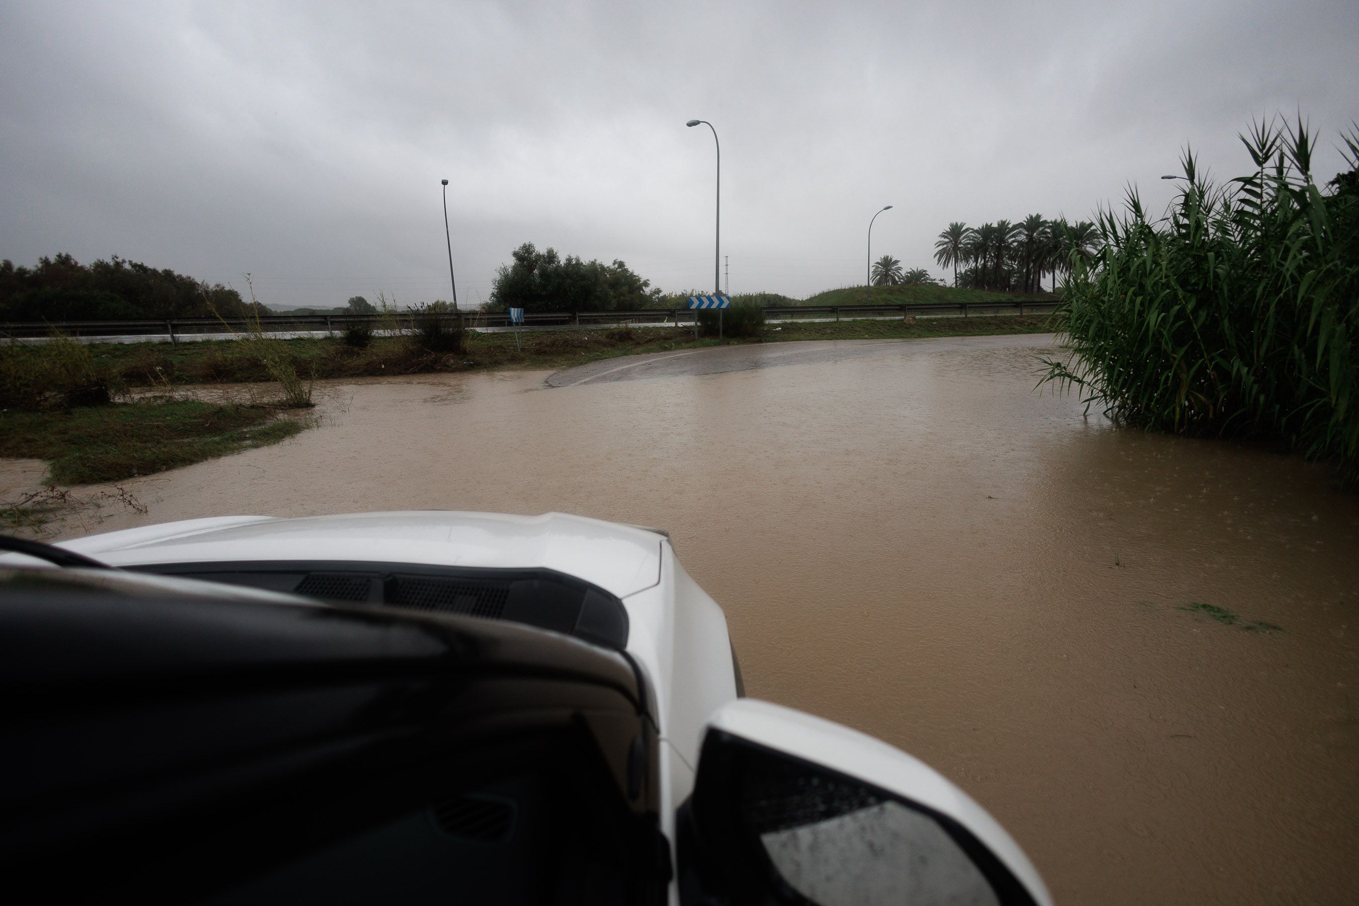
{"label": "dark green bushy tree clump between the two tallest lamp posts", "polygon": [[576,255],[563,258],[556,249],[538,251],[531,242],[515,249],[512,257],[512,264],[496,272],[488,311],[618,311],[647,308],[660,299],[650,280],[621,261],[606,265]]}

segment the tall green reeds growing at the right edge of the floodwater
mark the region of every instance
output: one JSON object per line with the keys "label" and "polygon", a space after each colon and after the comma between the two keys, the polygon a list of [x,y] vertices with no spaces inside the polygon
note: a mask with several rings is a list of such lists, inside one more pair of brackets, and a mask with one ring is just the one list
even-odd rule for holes
{"label": "tall green reeds growing at the right edge of the floodwater", "polygon": [[[1214,186],[1185,153],[1166,225],[1136,193],[1102,213],[1104,249],[1072,255],[1059,315],[1076,384],[1116,421],[1184,435],[1282,440],[1359,478],[1359,197],[1311,179],[1313,139],[1257,125],[1257,170]],[[1359,136],[1344,137],[1359,168]]]}

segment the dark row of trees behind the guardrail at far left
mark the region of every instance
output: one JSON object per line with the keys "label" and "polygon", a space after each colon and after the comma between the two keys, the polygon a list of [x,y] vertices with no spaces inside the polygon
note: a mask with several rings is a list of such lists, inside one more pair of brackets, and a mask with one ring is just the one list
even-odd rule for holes
{"label": "dark row of trees behind the guardrail at far left", "polygon": [[211,318],[213,310],[238,318],[255,307],[222,284],[117,255],[88,265],[64,253],[35,268],[0,262],[0,321]]}

